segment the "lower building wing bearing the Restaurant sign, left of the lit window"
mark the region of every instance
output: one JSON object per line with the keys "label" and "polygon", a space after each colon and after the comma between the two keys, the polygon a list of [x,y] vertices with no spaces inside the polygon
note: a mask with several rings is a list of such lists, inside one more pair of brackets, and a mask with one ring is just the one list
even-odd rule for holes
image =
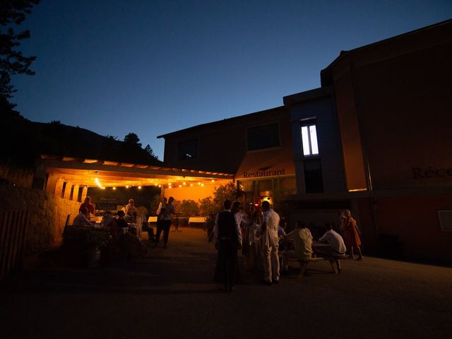
{"label": "lower building wing bearing the Restaurant sign, left of the lit window", "polygon": [[[234,175],[247,203],[296,193],[290,112],[276,107],[167,133],[165,165]],[[186,189],[171,195],[186,196]],[[195,198],[201,198],[195,196]],[[179,198],[180,200],[180,198]]]}

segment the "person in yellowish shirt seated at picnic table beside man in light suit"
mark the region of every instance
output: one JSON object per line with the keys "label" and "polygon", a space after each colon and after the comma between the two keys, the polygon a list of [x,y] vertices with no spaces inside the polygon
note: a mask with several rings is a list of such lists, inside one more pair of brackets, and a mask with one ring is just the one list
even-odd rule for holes
{"label": "person in yellowish shirt seated at picnic table beside man in light suit", "polygon": [[295,256],[298,260],[309,260],[312,257],[312,234],[301,222],[297,223],[297,229],[288,233],[285,240],[293,239],[295,251],[286,249],[283,251],[283,274],[289,271],[289,257]]}

